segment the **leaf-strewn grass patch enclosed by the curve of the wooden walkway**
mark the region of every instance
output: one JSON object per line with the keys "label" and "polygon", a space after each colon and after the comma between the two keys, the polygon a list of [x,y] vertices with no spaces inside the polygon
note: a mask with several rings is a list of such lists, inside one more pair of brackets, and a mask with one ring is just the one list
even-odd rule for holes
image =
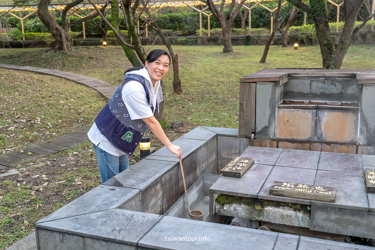
{"label": "leaf-strewn grass patch enclosed by the curve of the wooden walkway", "polygon": [[0,152],[64,135],[107,103],[98,91],[62,78],[0,68]]}

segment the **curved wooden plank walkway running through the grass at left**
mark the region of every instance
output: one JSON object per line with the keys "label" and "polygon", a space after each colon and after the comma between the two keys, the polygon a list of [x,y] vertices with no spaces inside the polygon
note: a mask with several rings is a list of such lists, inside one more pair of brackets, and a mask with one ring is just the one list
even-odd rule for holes
{"label": "curved wooden plank walkway running through the grass at left", "polygon": [[[0,64],[0,67],[7,69],[27,70],[42,74],[59,76],[86,85],[88,87],[92,87],[95,90],[98,90],[99,93],[101,93],[108,99],[112,97],[113,93],[117,89],[117,86],[110,85],[107,82],[70,72],[63,72],[52,69],[40,69],[28,66],[17,66],[10,64]],[[27,162],[29,160],[35,160],[40,157],[48,156],[50,154],[66,150],[68,148],[72,148],[76,145],[82,144],[83,142],[87,142],[89,141],[89,138],[87,137],[87,132],[89,132],[90,127],[91,124],[88,124],[84,127],[81,127],[80,129],[74,130],[62,136],[58,136],[49,141],[37,142],[36,144],[31,144],[22,148],[22,150],[18,149],[17,151],[1,154],[0,171],[8,169],[15,165],[22,164],[23,162]]]}

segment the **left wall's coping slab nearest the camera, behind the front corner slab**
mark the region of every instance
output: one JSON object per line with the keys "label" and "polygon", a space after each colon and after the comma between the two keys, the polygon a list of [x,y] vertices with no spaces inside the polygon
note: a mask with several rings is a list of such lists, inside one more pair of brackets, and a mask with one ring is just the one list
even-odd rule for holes
{"label": "left wall's coping slab nearest the camera, behind the front corner slab", "polygon": [[37,223],[62,219],[80,214],[118,208],[140,192],[139,189],[99,185],[59,210],[49,214]]}

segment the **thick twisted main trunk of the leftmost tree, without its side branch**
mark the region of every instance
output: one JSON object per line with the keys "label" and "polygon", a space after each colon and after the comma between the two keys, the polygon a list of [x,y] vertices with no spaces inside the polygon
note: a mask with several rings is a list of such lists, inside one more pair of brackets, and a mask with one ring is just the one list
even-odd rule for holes
{"label": "thick twisted main trunk of the leftmost tree, without its side branch", "polygon": [[58,23],[56,19],[49,15],[48,5],[51,3],[51,0],[42,0],[39,1],[37,14],[40,18],[40,21],[48,28],[48,31],[54,36],[55,43],[52,48],[48,49],[46,52],[52,53],[58,50],[63,50],[68,52],[72,50],[71,37],[67,31],[65,31]]}

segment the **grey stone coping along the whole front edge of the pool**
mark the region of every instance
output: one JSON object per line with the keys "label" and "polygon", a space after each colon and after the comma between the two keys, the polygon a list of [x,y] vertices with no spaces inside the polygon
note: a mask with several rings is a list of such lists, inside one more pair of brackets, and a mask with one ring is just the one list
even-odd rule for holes
{"label": "grey stone coping along the whole front edge of the pool", "polygon": [[[96,220],[97,218],[97,220]],[[91,220],[90,220],[91,219]],[[101,221],[109,222],[111,226],[99,230],[103,225]],[[84,222],[84,223],[82,223]],[[143,223],[142,223],[143,222]],[[146,223],[148,222],[148,223]],[[146,223],[146,224],[145,224]],[[98,225],[100,224],[100,225]],[[126,229],[134,225],[137,234],[128,235]],[[39,230],[38,230],[39,229]],[[115,230],[114,230],[115,229]],[[123,230],[124,229],[124,230]],[[181,230],[182,229],[182,230]],[[39,233],[38,233],[39,231]],[[96,214],[83,216],[74,216],[66,219],[59,219],[53,222],[38,223],[36,225],[37,242],[39,235],[49,231],[52,233],[62,233],[69,237],[82,237],[101,240],[105,242],[126,244],[128,246],[145,247],[147,249],[218,249],[223,244],[239,247],[239,249],[248,249],[248,246],[260,247],[261,249],[330,249],[354,250],[368,249],[374,250],[374,247],[366,247],[349,243],[321,240],[311,237],[289,235],[278,232],[260,231],[251,228],[241,228],[217,223],[200,222],[177,217],[160,216],[156,214],[140,213],[135,211],[112,209]],[[122,233],[121,233],[122,231]],[[228,237],[228,235],[231,235]],[[210,237],[210,241],[167,241],[165,237]],[[45,235],[42,235],[45,237]],[[228,239],[225,243],[222,239]],[[62,240],[58,238],[49,238],[49,241],[57,241],[60,244]],[[81,242],[84,242],[82,240]],[[234,243],[235,242],[235,243]],[[40,243],[39,243],[40,244]],[[81,243],[82,245],[84,243]],[[301,246],[300,246],[301,245]],[[314,246],[314,247],[313,247]]]}

